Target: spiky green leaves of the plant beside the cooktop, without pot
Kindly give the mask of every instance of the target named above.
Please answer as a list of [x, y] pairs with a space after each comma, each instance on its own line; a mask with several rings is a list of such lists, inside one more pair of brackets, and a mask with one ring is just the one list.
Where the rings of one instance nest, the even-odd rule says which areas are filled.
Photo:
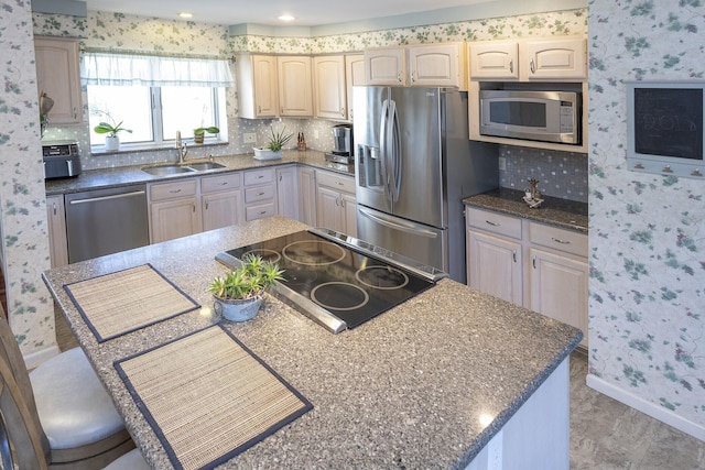
[[248, 254], [242, 258], [240, 267], [213, 280], [208, 291], [226, 300], [253, 298], [261, 296], [276, 281], [283, 281], [283, 273], [278, 263], [262, 260], [257, 254]]

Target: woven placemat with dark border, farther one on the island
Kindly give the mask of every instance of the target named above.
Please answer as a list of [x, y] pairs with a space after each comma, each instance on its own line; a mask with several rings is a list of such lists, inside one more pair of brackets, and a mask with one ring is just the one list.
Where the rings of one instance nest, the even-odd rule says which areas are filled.
[[64, 286], [98, 342], [199, 308], [151, 264]]

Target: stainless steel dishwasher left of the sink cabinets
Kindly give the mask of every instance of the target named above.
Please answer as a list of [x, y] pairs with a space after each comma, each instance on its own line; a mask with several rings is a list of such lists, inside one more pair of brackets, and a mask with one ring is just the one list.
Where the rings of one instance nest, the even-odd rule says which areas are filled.
[[64, 203], [69, 263], [150, 243], [145, 185], [67, 194]]

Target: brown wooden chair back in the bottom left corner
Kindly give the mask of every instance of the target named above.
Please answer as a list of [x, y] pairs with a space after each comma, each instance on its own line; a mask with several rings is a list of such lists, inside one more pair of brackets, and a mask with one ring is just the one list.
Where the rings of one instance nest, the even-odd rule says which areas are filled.
[[[2, 468], [46, 469], [50, 445], [22, 352], [0, 306], [0, 457]], [[13, 464], [12, 464], [13, 463]]]

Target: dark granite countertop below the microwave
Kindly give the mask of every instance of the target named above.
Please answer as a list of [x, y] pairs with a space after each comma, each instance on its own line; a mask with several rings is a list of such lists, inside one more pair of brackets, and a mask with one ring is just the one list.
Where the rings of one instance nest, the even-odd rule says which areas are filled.
[[538, 209], [523, 201], [523, 192], [508, 188], [494, 189], [463, 199], [467, 206], [496, 210], [510, 216], [535, 220], [551, 226], [587, 233], [587, 204], [557, 197], [542, 196], [543, 204]]

